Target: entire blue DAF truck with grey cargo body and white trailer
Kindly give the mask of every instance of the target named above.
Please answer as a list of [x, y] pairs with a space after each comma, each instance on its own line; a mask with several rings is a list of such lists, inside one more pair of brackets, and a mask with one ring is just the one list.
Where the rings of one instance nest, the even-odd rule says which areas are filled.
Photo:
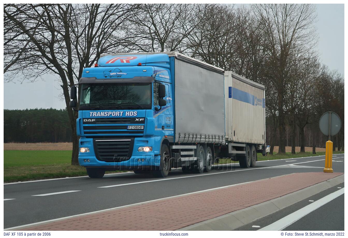
[[203, 173], [227, 157], [253, 167], [267, 152], [264, 86], [177, 52], [101, 55], [70, 97], [90, 178]]

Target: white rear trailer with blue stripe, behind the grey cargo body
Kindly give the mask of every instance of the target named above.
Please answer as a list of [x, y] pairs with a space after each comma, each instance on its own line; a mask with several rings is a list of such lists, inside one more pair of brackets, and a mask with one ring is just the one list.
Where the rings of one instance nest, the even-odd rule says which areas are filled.
[[266, 108], [263, 85], [231, 71], [224, 74], [226, 150], [241, 167], [253, 167], [257, 152], [266, 154]]

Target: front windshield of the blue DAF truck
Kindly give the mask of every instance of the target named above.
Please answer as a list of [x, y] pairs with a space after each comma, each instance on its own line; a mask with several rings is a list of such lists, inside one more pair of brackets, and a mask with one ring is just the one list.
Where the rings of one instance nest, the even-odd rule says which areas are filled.
[[80, 109], [151, 109], [151, 83], [82, 84]]

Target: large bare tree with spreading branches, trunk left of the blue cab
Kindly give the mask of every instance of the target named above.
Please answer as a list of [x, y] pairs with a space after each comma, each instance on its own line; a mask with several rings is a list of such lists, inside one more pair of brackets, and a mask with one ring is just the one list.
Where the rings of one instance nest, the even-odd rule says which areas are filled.
[[[69, 107], [69, 87], [78, 82], [84, 67], [99, 55], [118, 51], [125, 42], [124, 20], [137, 5], [7, 4], [5, 81], [23, 75], [35, 80], [51, 73], [61, 81], [73, 132], [72, 164], [78, 164], [77, 113]], [[14, 64], [11, 59], [16, 59]]]

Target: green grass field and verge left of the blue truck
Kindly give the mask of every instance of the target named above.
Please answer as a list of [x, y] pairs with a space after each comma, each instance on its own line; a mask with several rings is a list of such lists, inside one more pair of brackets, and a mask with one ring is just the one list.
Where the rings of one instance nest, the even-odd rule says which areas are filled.
[[4, 182], [87, 175], [85, 167], [71, 165], [71, 150], [4, 150], [3, 170]]

